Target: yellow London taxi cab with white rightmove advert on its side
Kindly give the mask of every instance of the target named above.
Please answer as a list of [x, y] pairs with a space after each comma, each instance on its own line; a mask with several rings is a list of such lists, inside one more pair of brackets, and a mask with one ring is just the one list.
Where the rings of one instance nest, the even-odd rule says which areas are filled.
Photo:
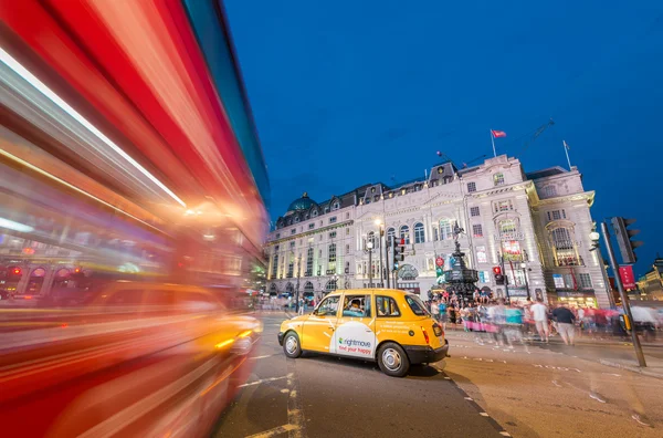
[[287, 357], [302, 351], [377, 361], [390, 376], [410, 365], [443, 359], [449, 352], [442, 327], [418, 295], [391, 289], [336, 291], [309, 315], [281, 324], [278, 343]]

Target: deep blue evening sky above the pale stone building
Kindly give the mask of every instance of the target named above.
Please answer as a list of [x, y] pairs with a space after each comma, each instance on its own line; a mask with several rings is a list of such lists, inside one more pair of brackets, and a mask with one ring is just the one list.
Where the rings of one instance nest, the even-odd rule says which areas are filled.
[[[610, 4], [610, 7], [608, 7]], [[596, 220], [663, 252], [663, 2], [225, 0], [272, 182], [272, 218], [367, 182], [499, 153], [567, 167]], [[533, 132], [556, 122], [525, 150]]]

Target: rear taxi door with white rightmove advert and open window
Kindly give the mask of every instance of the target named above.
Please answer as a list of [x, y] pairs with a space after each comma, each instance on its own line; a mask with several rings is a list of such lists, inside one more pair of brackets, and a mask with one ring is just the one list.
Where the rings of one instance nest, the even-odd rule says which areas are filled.
[[377, 341], [371, 294], [346, 292], [340, 304], [334, 333], [336, 353], [372, 359]]

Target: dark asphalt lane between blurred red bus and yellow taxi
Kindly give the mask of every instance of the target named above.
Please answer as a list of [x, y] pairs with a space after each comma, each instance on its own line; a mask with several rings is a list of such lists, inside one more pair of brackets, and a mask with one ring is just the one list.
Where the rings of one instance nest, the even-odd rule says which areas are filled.
[[218, 437], [499, 437], [506, 434], [441, 371], [406, 378], [375, 364], [305, 354], [287, 359], [276, 334], [285, 315], [264, 315], [253, 375], [217, 424]]

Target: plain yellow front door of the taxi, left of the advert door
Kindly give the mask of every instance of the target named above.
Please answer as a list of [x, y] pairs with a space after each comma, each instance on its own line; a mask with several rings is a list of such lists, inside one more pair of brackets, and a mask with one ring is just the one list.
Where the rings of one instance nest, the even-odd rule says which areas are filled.
[[302, 326], [302, 350], [336, 353], [334, 331], [340, 295], [325, 298]]

